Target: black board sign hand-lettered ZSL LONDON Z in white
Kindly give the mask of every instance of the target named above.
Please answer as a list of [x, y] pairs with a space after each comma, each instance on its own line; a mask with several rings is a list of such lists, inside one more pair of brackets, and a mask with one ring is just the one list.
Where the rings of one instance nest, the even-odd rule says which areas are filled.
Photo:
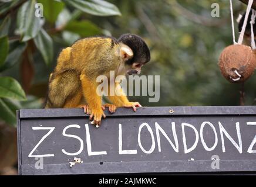
[[[20, 175], [256, 172], [256, 107], [22, 109]], [[74, 159], [76, 161], [74, 161]]]

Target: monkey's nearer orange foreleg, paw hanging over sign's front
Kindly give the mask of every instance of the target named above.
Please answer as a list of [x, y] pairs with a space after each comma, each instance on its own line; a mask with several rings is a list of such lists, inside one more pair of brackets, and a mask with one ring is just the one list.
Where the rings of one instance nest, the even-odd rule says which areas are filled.
[[91, 112], [90, 120], [93, 119], [93, 123], [97, 127], [100, 125], [102, 117], [106, 117], [102, 110], [102, 96], [97, 95], [96, 81], [87, 78], [84, 74], [80, 75], [80, 81], [82, 83], [83, 96]]

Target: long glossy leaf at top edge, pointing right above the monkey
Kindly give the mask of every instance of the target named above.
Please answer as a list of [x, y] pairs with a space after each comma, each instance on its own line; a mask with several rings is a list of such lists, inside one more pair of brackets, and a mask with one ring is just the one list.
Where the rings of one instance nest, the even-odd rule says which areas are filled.
[[62, 0], [65, 4], [71, 5], [80, 11], [96, 16], [115, 16], [121, 15], [116, 5], [103, 0]]

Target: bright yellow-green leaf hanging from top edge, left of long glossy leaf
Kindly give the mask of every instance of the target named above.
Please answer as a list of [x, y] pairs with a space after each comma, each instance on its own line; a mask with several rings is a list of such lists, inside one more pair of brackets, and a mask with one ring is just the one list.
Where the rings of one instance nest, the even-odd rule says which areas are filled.
[[59, 13], [65, 6], [63, 2], [52, 0], [38, 0], [37, 2], [43, 4], [43, 17], [50, 23], [55, 23]]

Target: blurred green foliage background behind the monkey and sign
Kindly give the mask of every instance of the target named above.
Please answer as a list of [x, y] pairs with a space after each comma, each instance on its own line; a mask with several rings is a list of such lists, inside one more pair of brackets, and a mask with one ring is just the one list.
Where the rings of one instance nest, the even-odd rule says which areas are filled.
[[[43, 4], [43, 18], [35, 17], [36, 2]], [[220, 5], [219, 18], [211, 17], [213, 3]], [[240, 85], [226, 81], [217, 65], [232, 44], [229, 6], [221, 0], [0, 1], [0, 117], [15, 124], [16, 109], [42, 107], [64, 47], [81, 37], [123, 33], [142, 36], [150, 47], [142, 74], [160, 75], [159, 102], [131, 100], [143, 106], [238, 105]], [[245, 8], [234, 1], [234, 16]], [[254, 102], [255, 78], [245, 84], [247, 105]]]

